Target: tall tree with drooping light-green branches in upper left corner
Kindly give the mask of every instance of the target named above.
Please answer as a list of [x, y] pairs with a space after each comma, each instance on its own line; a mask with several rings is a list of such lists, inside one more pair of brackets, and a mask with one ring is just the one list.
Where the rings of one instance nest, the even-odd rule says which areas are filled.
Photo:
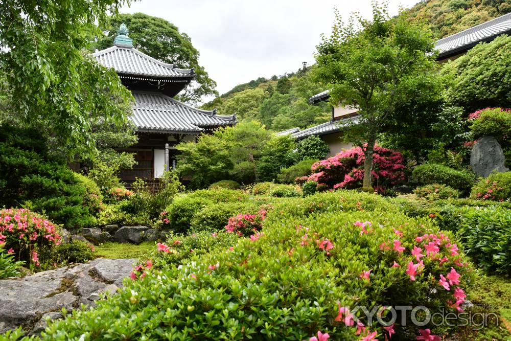
[[[106, 13], [129, 0], [4, 0], [0, 3], [0, 67], [12, 86], [19, 119], [38, 121], [68, 146], [95, 151], [90, 118], [123, 123], [119, 100], [131, 95], [113, 70], [83, 49]], [[71, 146], [71, 147], [69, 147]]]

